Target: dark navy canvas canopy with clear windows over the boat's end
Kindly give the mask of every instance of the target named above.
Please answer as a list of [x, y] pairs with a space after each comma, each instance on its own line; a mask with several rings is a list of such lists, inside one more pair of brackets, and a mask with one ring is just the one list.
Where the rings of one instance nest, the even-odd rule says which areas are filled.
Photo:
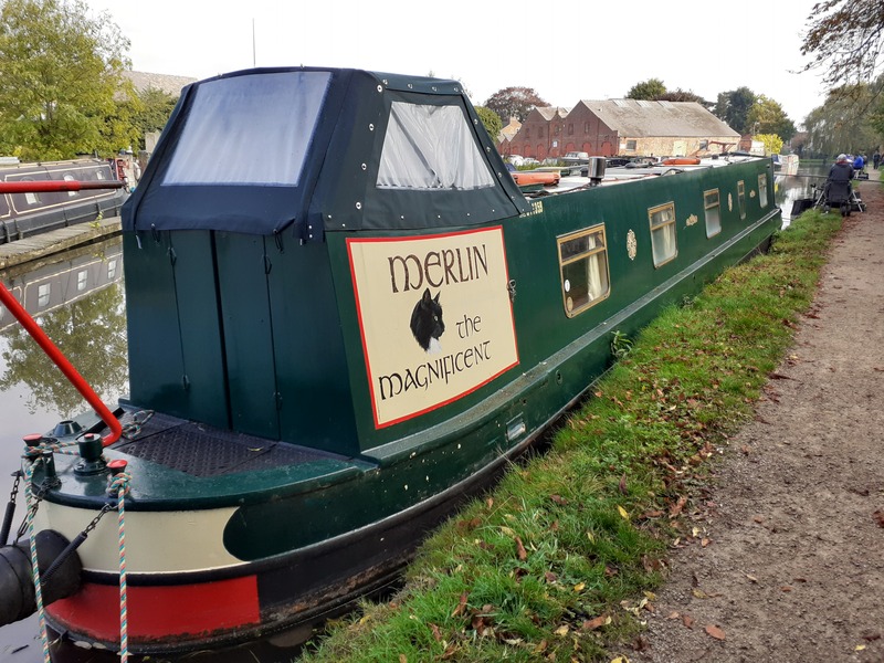
[[123, 223], [311, 240], [528, 210], [456, 81], [257, 69], [185, 88]]

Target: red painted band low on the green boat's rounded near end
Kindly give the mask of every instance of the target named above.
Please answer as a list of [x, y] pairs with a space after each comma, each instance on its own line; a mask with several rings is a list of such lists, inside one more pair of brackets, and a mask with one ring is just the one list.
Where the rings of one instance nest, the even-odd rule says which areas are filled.
[[[218, 632], [260, 621], [255, 576], [199, 585], [129, 585], [127, 601], [130, 643]], [[73, 597], [49, 606], [46, 612], [74, 638], [81, 634], [103, 642], [119, 641], [116, 585], [86, 582]]]

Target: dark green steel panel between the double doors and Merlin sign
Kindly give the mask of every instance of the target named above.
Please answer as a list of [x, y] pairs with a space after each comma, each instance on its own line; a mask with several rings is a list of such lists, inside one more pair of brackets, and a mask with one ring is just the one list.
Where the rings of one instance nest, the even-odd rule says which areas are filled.
[[280, 425], [287, 442], [359, 452], [327, 246], [266, 240]]

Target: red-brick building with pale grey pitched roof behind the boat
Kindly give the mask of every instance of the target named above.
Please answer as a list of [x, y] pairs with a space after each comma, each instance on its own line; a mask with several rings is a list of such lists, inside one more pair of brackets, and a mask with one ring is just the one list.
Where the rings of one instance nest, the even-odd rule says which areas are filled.
[[535, 108], [508, 154], [545, 159], [592, 156], [687, 156], [735, 149], [739, 134], [695, 102], [581, 99], [571, 108]]

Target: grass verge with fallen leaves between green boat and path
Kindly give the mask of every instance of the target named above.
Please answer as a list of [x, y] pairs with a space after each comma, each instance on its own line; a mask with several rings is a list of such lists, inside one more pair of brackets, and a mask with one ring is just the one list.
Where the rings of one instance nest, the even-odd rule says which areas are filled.
[[[815, 293], [841, 218], [804, 213], [771, 251], [666, 309], [551, 450], [422, 546], [402, 591], [334, 624], [304, 662], [610, 661], [629, 650], [709, 460], [753, 413]], [[628, 350], [628, 351], [625, 351]]]

